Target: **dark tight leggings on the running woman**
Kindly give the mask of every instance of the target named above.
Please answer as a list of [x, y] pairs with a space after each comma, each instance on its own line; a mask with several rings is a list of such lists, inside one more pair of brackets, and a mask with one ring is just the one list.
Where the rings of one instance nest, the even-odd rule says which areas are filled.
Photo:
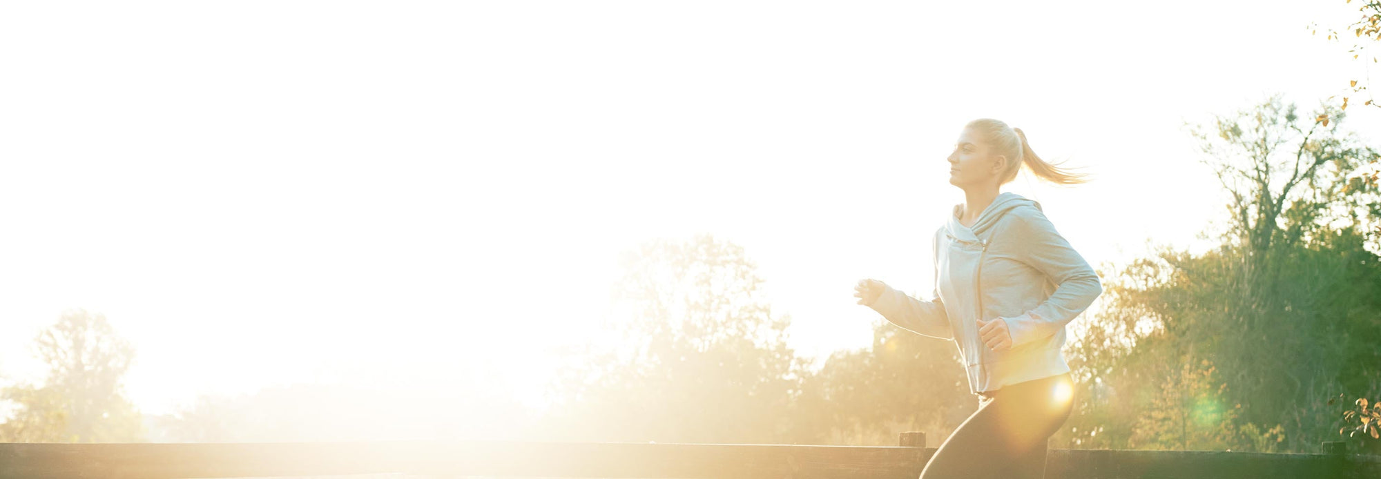
[[921, 479], [1044, 478], [1050, 436], [1069, 418], [1070, 373], [1010, 384], [979, 399], [931, 456]]

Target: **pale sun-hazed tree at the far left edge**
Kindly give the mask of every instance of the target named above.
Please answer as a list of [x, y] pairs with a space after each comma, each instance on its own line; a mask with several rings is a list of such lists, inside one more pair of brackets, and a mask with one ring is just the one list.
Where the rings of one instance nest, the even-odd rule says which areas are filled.
[[134, 346], [115, 334], [104, 315], [62, 313], [36, 338], [48, 364], [43, 387], [15, 385], [3, 399], [19, 404], [6, 424], [11, 442], [142, 442], [142, 417], [124, 398], [122, 377]]

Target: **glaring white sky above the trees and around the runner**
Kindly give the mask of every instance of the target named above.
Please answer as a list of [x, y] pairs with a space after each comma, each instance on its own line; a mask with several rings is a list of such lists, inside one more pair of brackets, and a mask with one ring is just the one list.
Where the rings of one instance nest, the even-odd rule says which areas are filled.
[[747, 248], [800, 353], [865, 346], [858, 279], [931, 290], [965, 121], [1098, 175], [1008, 185], [1091, 264], [1189, 246], [1222, 208], [1181, 121], [1341, 92], [1359, 65], [1305, 26], [1352, 8], [7, 3], [0, 375], [39, 380], [33, 337], [86, 308], [145, 413], [474, 370], [537, 404], [615, 255], [697, 232]]

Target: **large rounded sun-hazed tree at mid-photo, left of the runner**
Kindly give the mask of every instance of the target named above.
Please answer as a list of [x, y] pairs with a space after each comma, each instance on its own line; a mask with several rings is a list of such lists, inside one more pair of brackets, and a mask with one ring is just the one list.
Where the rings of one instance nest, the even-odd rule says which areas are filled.
[[744, 250], [699, 235], [620, 258], [613, 346], [587, 345], [547, 418], [579, 440], [779, 443], [805, 360], [786, 345]]

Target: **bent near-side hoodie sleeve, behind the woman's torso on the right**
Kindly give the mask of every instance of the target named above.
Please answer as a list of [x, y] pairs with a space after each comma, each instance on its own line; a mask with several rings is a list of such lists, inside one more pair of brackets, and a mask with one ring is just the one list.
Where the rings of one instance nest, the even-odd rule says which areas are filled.
[[1012, 215], [1011, 231], [1004, 236], [1019, 239], [1018, 258], [1058, 287], [1036, 308], [1004, 317], [1014, 348], [1055, 334], [1103, 293], [1098, 273], [1059, 236], [1045, 214], [1040, 208], [1022, 210]]

